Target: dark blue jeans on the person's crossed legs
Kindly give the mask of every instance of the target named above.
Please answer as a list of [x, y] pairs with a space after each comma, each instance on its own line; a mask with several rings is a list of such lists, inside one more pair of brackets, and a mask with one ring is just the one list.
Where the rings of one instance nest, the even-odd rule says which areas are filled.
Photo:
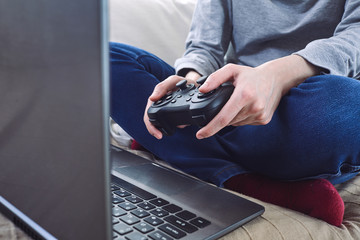
[[223, 186], [255, 172], [280, 180], [344, 182], [360, 171], [360, 81], [334, 75], [308, 78], [284, 96], [264, 126], [226, 127], [198, 140], [197, 126], [157, 140], [143, 115], [156, 84], [175, 74], [156, 56], [110, 44], [111, 117], [142, 146], [172, 166]]

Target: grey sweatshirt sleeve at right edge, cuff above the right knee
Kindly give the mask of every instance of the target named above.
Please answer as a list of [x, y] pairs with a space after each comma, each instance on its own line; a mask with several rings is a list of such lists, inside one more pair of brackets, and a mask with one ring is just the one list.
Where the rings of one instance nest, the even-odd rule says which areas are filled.
[[312, 41], [294, 54], [325, 73], [360, 78], [360, 1], [346, 1], [342, 20], [332, 37]]

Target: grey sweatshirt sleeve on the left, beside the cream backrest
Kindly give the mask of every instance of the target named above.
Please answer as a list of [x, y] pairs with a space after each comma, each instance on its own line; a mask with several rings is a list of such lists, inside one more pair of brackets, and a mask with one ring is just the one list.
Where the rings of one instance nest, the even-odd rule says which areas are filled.
[[231, 38], [231, 1], [197, 1], [190, 32], [186, 39], [186, 51], [175, 62], [177, 74], [184, 69], [194, 69], [208, 75], [224, 65], [224, 55]]

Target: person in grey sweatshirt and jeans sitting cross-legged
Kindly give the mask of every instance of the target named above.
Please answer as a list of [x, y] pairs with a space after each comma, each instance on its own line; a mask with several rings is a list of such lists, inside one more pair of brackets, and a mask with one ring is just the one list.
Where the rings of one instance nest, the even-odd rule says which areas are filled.
[[[110, 44], [111, 116], [186, 173], [340, 226], [334, 185], [360, 171], [359, 39], [358, 0], [199, 0], [175, 68]], [[231, 82], [232, 96], [206, 126], [164, 137], [147, 109], [204, 75], [201, 92]]]

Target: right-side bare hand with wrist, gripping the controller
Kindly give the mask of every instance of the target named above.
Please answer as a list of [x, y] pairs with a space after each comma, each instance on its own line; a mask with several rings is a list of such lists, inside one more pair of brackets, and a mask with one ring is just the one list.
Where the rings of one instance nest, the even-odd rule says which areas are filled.
[[211, 74], [199, 90], [205, 93], [224, 82], [232, 82], [234, 92], [215, 118], [197, 132], [196, 137], [210, 137], [228, 125], [269, 123], [281, 97], [318, 71], [297, 55], [276, 59], [256, 68], [226, 65]]

